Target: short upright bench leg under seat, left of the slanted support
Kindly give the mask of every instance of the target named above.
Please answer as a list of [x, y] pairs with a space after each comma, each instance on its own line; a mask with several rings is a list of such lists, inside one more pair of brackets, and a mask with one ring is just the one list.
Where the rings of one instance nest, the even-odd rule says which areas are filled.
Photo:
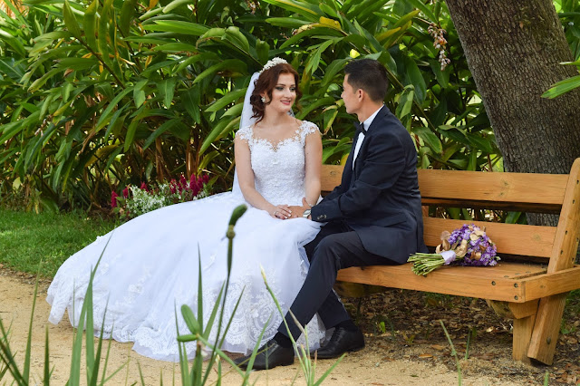
[[530, 362], [527, 357], [527, 350], [534, 330], [534, 323], [536, 322], [537, 304], [537, 300], [527, 303], [508, 304], [514, 318], [514, 340], [512, 343], [512, 358], [514, 361]]

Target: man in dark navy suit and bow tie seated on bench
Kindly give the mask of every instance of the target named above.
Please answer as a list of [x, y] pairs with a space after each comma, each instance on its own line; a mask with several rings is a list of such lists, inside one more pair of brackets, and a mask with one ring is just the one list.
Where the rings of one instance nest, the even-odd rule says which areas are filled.
[[[298, 216], [327, 223], [305, 246], [311, 265], [290, 307], [303, 326], [318, 314], [326, 328], [334, 327], [330, 341], [318, 350], [318, 358], [335, 358], [364, 348], [362, 332], [333, 292], [339, 269], [403, 264], [411, 254], [427, 251], [417, 152], [401, 121], [382, 103], [387, 72], [371, 59], [348, 63], [344, 72], [344, 106], [362, 123], [357, 125], [341, 185], [314, 207], [304, 200], [304, 207], [292, 208]], [[301, 332], [289, 313], [285, 321], [297, 340]], [[289, 365], [294, 355], [282, 323], [275, 337], [259, 350], [253, 368]], [[237, 361], [242, 367], [244, 359]]]

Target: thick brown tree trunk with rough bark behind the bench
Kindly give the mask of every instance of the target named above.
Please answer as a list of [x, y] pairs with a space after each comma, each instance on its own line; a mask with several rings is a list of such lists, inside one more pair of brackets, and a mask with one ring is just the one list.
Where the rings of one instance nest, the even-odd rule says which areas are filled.
[[[552, 0], [447, 0], [507, 171], [569, 173], [580, 157], [580, 90], [554, 100], [552, 84], [577, 75]], [[533, 188], [533, 187], [530, 187]]]

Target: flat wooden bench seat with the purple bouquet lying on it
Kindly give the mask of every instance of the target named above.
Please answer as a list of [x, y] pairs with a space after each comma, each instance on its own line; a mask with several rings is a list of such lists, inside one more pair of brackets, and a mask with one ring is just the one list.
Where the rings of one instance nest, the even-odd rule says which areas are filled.
[[411, 263], [408, 263], [342, 269], [337, 280], [524, 303], [530, 299], [526, 299], [522, 280], [545, 273], [546, 267], [542, 265], [500, 263], [486, 267], [443, 266], [427, 276], [420, 276], [413, 274]]

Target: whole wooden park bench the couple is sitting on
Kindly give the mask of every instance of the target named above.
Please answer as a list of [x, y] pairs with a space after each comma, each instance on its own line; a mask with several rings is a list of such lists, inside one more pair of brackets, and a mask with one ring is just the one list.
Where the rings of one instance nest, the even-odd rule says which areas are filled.
[[[322, 190], [337, 186], [342, 172], [342, 166], [324, 165]], [[552, 364], [566, 294], [580, 288], [580, 265], [575, 265], [579, 180], [580, 159], [569, 175], [420, 169], [424, 206], [556, 213], [558, 225], [424, 217], [424, 239], [430, 248], [440, 244], [442, 231], [473, 222], [486, 228], [502, 260], [496, 266], [444, 266], [427, 276], [413, 274], [410, 263], [353, 267], [339, 271], [338, 280], [501, 302], [514, 319], [514, 360]]]

